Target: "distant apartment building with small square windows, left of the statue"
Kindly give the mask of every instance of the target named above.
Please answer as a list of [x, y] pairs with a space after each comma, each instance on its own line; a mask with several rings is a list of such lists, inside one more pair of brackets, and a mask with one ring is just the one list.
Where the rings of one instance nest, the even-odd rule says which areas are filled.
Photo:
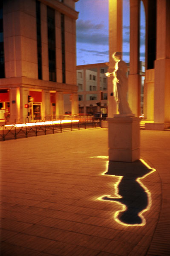
[[77, 66], [79, 113], [107, 113], [107, 69], [107, 63]]

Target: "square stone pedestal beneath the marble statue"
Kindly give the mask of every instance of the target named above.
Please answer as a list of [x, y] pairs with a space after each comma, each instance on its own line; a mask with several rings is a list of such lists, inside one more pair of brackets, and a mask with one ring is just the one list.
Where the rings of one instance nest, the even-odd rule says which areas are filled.
[[134, 162], [140, 158], [140, 118], [108, 117], [109, 161]]

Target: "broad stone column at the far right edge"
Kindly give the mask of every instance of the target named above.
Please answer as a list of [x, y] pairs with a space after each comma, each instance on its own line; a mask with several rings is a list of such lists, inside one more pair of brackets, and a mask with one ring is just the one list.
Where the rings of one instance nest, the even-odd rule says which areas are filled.
[[170, 122], [170, 1], [157, 0], [154, 122]]

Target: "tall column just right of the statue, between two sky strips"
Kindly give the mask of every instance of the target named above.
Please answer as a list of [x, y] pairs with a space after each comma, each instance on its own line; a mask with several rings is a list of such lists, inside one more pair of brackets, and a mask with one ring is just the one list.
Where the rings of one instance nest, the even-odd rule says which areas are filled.
[[130, 0], [130, 75], [128, 101], [132, 112], [140, 115], [141, 77], [139, 71], [139, 0]]

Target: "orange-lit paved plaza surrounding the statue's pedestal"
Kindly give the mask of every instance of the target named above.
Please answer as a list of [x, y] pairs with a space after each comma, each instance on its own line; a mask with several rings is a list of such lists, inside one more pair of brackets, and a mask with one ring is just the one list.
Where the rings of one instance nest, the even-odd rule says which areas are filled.
[[108, 162], [107, 132], [0, 142], [2, 256], [170, 255], [170, 132], [141, 130], [135, 163]]

